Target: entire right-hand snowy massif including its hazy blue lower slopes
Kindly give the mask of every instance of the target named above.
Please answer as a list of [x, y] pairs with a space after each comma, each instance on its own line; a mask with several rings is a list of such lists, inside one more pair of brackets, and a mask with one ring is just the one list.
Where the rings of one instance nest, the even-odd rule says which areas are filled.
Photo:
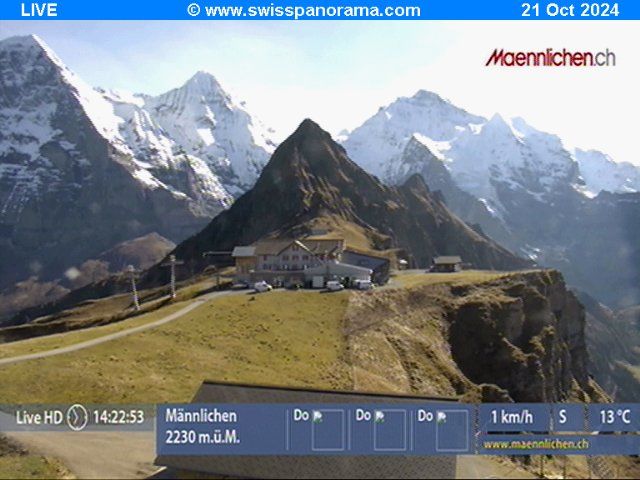
[[421, 175], [467, 224], [600, 301], [640, 303], [639, 167], [424, 91], [381, 108], [341, 143], [388, 184]]

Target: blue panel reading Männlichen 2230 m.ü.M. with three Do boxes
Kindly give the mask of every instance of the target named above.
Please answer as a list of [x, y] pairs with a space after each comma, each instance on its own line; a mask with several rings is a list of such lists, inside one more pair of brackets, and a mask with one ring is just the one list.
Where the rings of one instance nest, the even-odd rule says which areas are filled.
[[158, 455], [473, 453], [475, 406], [161, 405]]

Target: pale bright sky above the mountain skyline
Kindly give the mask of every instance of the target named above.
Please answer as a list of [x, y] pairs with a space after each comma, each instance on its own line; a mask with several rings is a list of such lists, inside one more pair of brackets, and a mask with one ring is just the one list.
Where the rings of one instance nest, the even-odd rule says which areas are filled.
[[[2, 22], [37, 33], [94, 86], [158, 94], [213, 73], [286, 136], [311, 117], [337, 133], [419, 88], [480, 115], [522, 116], [569, 146], [640, 164], [637, 24], [625, 22]], [[484, 67], [496, 47], [611, 48], [611, 69]], [[633, 141], [632, 141], [633, 140]]]

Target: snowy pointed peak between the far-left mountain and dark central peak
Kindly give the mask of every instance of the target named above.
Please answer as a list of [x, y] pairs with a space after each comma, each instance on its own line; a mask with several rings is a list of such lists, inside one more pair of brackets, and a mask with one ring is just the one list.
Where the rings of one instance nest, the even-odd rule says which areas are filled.
[[225, 205], [253, 185], [275, 148], [273, 132], [205, 71], [158, 96], [101, 92], [122, 119], [122, 138], [143, 159], [139, 165], [158, 170], [166, 182], [164, 170], [188, 159], [206, 192]]

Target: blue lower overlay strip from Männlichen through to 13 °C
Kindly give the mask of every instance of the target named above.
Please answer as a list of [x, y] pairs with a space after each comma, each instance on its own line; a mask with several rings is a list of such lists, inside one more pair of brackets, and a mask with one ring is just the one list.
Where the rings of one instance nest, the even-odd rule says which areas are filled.
[[[637, 419], [638, 405], [593, 405]], [[637, 455], [637, 423], [578, 404], [159, 405], [158, 455]], [[620, 415], [617, 413], [620, 411]], [[626, 412], [626, 413], [625, 413]], [[477, 422], [476, 422], [476, 413]]]

